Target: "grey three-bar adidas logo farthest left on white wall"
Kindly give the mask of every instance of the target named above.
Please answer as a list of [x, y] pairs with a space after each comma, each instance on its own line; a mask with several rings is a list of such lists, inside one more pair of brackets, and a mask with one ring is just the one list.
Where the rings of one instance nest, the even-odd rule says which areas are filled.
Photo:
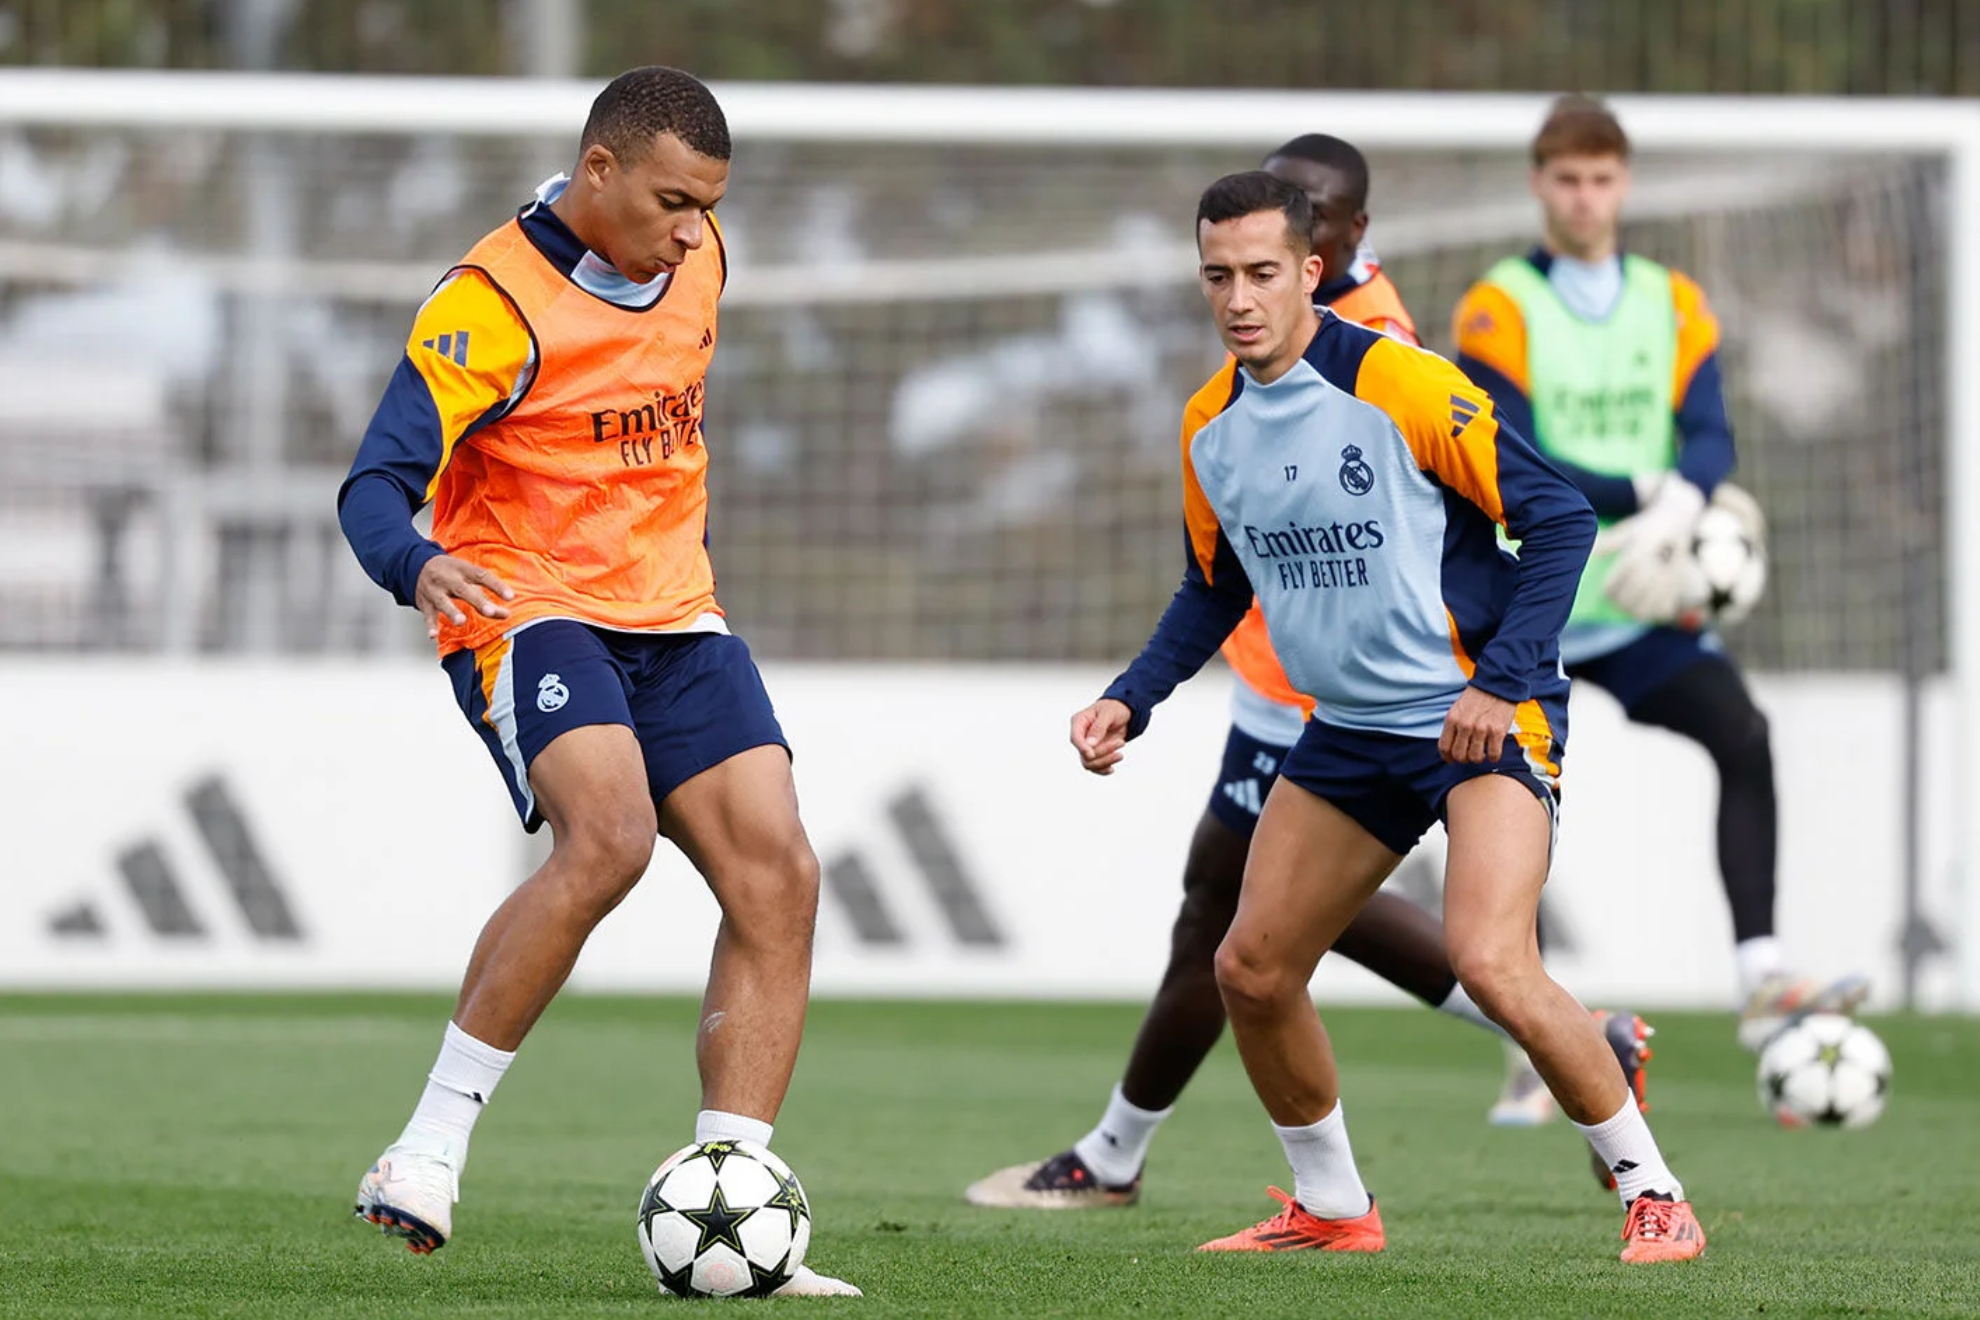
[[[275, 875], [242, 811], [220, 776], [194, 784], [184, 798], [206, 855], [240, 908], [255, 940], [303, 942], [303, 928], [289, 906], [289, 895]], [[186, 900], [178, 867], [156, 839], [139, 839], [119, 849], [117, 873], [145, 918], [150, 934], [166, 940], [212, 940], [212, 930]], [[59, 938], [105, 938], [109, 928], [91, 898], [81, 898], [48, 918], [48, 932]]]

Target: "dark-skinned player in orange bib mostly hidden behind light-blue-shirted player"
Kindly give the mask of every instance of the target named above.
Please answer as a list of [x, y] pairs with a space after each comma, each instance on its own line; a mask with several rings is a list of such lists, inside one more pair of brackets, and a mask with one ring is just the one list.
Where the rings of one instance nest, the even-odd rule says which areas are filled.
[[[1265, 156], [1263, 168], [1305, 192], [1313, 206], [1313, 251], [1321, 259], [1315, 305], [1414, 344], [1416, 325], [1402, 295], [1364, 245], [1368, 160], [1360, 150], [1336, 137], [1307, 133]], [[1138, 1201], [1156, 1130], [1224, 1033], [1224, 999], [1214, 970], [1218, 942], [1238, 910], [1259, 809], [1313, 710], [1313, 701], [1285, 677], [1255, 604], [1224, 643], [1224, 659], [1238, 679], [1224, 764], [1190, 839], [1168, 968], [1135, 1037], [1127, 1071], [1091, 1132], [1047, 1160], [1014, 1164], [978, 1179], [964, 1193], [974, 1205], [1099, 1209]], [[1335, 952], [1432, 1007], [1493, 1027], [1457, 984], [1437, 918], [1406, 898], [1374, 895], [1340, 932]], [[1606, 1013], [1602, 1021], [1632, 1088], [1639, 1092], [1649, 1059], [1643, 1047], [1647, 1027], [1634, 1013]], [[1519, 1094], [1538, 1088], [1540, 1098], [1552, 1104], [1546, 1083], [1531, 1071], [1525, 1055], [1513, 1053], [1525, 1065], [1513, 1077]]]

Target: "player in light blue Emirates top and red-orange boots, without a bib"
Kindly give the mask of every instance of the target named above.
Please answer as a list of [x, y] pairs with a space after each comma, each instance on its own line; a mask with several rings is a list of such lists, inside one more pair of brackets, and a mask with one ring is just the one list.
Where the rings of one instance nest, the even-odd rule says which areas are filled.
[[1071, 740], [1087, 770], [1111, 774], [1253, 600], [1293, 691], [1315, 699], [1216, 952], [1293, 1193], [1273, 1189], [1279, 1213], [1204, 1251], [1386, 1245], [1307, 984], [1443, 819], [1459, 982], [1616, 1176], [1622, 1259], [1695, 1257], [1705, 1235], [1681, 1183], [1602, 1029], [1546, 976], [1534, 938], [1566, 744], [1560, 629], [1594, 513], [1455, 366], [1315, 311], [1323, 263], [1301, 188], [1234, 174], [1204, 192], [1196, 222], [1204, 295], [1234, 360], [1182, 418], [1184, 576], [1142, 653], [1073, 716]]

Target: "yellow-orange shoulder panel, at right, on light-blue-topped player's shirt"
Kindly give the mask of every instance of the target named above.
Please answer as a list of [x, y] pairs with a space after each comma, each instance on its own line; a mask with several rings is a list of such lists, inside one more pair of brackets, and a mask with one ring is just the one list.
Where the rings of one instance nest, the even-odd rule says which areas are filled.
[[1505, 522], [1499, 497], [1499, 418], [1491, 396], [1424, 348], [1376, 340], [1354, 378], [1354, 396], [1390, 416], [1416, 465], [1432, 473], [1493, 522]]

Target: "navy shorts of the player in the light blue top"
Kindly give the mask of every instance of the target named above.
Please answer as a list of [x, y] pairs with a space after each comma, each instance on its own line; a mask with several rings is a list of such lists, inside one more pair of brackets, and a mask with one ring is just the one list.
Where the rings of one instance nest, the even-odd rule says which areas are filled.
[[1560, 803], [1560, 756], [1568, 714], [1558, 703], [1527, 703], [1519, 728], [1495, 762], [1453, 766], [1437, 756], [1436, 738], [1406, 738], [1307, 720], [1281, 774], [1344, 811], [1382, 847], [1406, 855], [1443, 817], [1453, 788], [1481, 774], [1525, 784], [1548, 817]]

